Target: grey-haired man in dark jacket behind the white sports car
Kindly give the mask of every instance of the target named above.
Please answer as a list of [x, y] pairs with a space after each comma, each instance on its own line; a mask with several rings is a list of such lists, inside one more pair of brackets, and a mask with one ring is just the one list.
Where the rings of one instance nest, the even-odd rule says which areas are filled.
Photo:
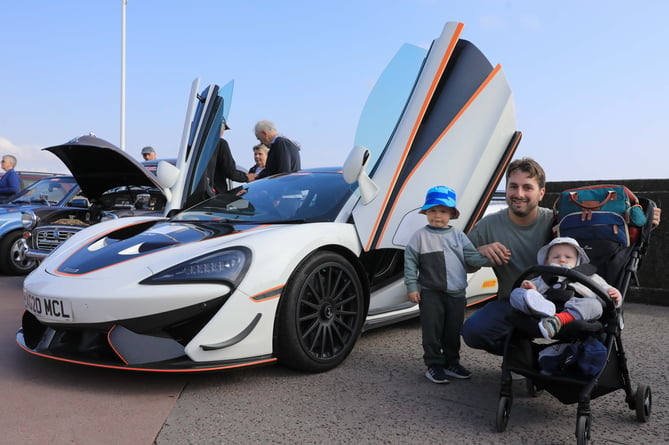
[[254, 128], [256, 138], [269, 147], [267, 164], [258, 179], [277, 173], [296, 172], [301, 168], [300, 148], [290, 139], [279, 136], [271, 121], [260, 121]]

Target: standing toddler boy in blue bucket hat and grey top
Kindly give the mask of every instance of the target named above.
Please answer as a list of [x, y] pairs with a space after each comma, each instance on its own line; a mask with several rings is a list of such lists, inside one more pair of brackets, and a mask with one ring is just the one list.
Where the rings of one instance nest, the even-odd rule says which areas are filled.
[[427, 225], [411, 238], [404, 251], [404, 284], [409, 300], [420, 306], [425, 377], [448, 383], [447, 377], [468, 379], [460, 364], [460, 330], [465, 316], [466, 266], [489, 266], [461, 230], [449, 226], [460, 216], [455, 191], [432, 187], [420, 213]]

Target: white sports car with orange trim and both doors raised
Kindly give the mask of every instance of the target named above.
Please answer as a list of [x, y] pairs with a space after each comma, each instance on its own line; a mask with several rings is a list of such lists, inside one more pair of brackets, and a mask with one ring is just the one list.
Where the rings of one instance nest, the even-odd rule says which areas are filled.
[[[168, 217], [102, 222], [57, 248], [25, 279], [18, 344], [132, 370], [278, 360], [318, 372], [344, 360], [363, 329], [415, 317], [403, 248], [425, 224], [426, 190], [454, 188], [453, 224], [467, 231], [520, 140], [501, 68], [461, 31], [448, 23], [429, 51], [400, 50], [343, 168], [277, 175], [204, 200], [227, 93], [197, 94], [194, 83], [176, 166], [157, 171]], [[494, 280], [479, 286], [470, 283], [470, 296], [496, 291]]]

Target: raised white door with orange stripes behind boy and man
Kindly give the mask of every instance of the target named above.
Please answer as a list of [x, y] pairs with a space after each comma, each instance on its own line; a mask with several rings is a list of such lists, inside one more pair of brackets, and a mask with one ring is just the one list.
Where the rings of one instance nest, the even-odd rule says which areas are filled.
[[353, 218], [363, 248], [404, 247], [425, 216], [418, 214], [428, 188], [457, 192], [468, 230], [482, 214], [520, 141], [511, 89], [463, 25], [447, 23], [432, 43], [413, 91], [370, 177], [379, 187], [372, 202], [358, 202]]

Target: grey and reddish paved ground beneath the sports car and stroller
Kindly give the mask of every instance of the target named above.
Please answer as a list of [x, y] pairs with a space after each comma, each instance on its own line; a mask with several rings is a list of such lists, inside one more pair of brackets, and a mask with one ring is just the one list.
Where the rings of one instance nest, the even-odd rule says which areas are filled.
[[[279, 366], [154, 375], [33, 357], [14, 341], [21, 280], [0, 277], [0, 443], [49, 444], [568, 444], [576, 405], [514, 384], [505, 433], [495, 432], [499, 357], [463, 348], [468, 381], [422, 376], [416, 320], [364, 334], [324, 374]], [[640, 424], [624, 392], [592, 402], [592, 444], [669, 443], [669, 307], [629, 304], [623, 341], [634, 385], [653, 390]]]

